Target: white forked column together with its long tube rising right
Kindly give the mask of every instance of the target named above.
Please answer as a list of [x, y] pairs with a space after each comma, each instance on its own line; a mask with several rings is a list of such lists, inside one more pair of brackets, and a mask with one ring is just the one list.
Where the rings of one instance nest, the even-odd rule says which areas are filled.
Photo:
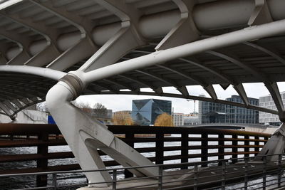
[[[175, 48], [157, 51], [146, 56], [125, 60], [113, 65], [105, 63], [105, 65], [108, 66], [84, 73], [84, 71], [89, 70], [90, 67], [93, 68], [93, 59], [92, 61], [88, 61], [88, 64], [85, 65], [86, 69], [84, 69], [84, 71], [77, 70], [70, 72], [64, 76], [57, 85], [53, 86], [46, 96], [46, 104], [83, 169], [98, 169], [104, 167], [98, 155], [98, 149], [110, 157], [113, 157], [115, 161], [124, 167], [151, 165], [152, 162], [150, 162], [150, 160], [136, 152], [135, 149], [128, 146], [128, 144], [116, 138], [105, 125], [92, 120], [84, 112], [74, 107], [71, 104], [71, 100], [78, 97], [78, 95], [82, 93], [83, 88], [95, 80], [120, 75], [130, 70], [165, 63], [169, 60], [191, 56], [216, 48], [232, 46], [244, 41], [278, 35], [284, 32], [285, 20], [275, 21], [273, 23], [244, 28], [239, 31], [195, 41]], [[110, 49], [112, 49], [111, 46]], [[209, 87], [208, 90], [212, 91], [213, 89]], [[212, 96], [215, 98], [216, 95], [212, 92]], [[154, 176], [158, 174], [155, 168], [138, 169], [132, 172], [137, 176]], [[107, 181], [110, 180], [110, 176], [105, 172], [89, 173], [86, 174], [86, 176], [88, 176], [91, 183], [105, 181], [105, 185], [108, 185]]]

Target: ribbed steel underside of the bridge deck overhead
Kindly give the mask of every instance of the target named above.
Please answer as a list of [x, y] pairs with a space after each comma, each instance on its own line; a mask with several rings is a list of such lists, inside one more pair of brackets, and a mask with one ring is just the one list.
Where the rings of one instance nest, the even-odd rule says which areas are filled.
[[[249, 25], [285, 19], [282, 0], [268, 0], [260, 10], [253, 0], [193, 2], [24, 0], [0, 10], [1, 113], [13, 117], [45, 100], [60, 76], [72, 70], [90, 72]], [[186, 24], [185, 18], [190, 23]], [[131, 30], [127, 32], [135, 40], [130, 34], [118, 33], [129, 23]], [[234, 85], [242, 95], [242, 83], [284, 81], [284, 41], [285, 33], [112, 75], [93, 81], [83, 94], [162, 95], [225, 102], [214, 98], [213, 84], [224, 88]], [[98, 59], [90, 61], [94, 55]], [[1, 65], [48, 68], [59, 74], [48, 78], [2, 70]], [[188, 85], [202, 85], [212, 99], [191, 96]], [[164, 93], [162, 87], [167, 86], [177, 88], [180, 94]], [[239, 106], [249, 107], [246, 102]]]

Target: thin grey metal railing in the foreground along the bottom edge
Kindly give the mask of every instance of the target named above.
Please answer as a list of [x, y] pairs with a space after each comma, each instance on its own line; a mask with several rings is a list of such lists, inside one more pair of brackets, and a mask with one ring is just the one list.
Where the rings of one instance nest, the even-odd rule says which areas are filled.
[[[50, 176], [48, 178], [49, 182], [47, 186], [29, 187], [26, 189], [76, 189], [81, 186], [98, 186], [102, 184], [108, 184], [109, 189], [135, 189], [139, 187], [165, 190], [226, 189], [227, 187], [230, 187], [231, 189], [276, 189], [285, 186], [285, 154], [276, 155], [278, 156], [278, 160], [274, 162], [270, 161], [273, 155], [267, 155], [261, 157], [260, 162], [253, 162], [252, 157], [244, 157], [182, 164], [157, 164], [155, 166], [143, 167], [6, 174], [0, 175], [0, 179], [15, 176]], [[202, 167], [203, 164], [208, 164], [210, 167]], [[157, 176], [122, 178], [123, 174], [120, 174], [120, 171], [123, 171], [124, 169], [146, 167], [158, 167], [159, 172]], [[175, 170], [181, 167], [186, 167], [187, 169], [180, 171]], [[74, 179], [75, 177], [64, 176], [66, 174], [85, 174], [88, 172], [100, 171], [109, 171], [111, 176], [113, 176], [113, 180], [89, 184], [68, 184], [67, 180], [71, 178]], [[61, 175], [61, 177], [58, 177], [59, 175]], [[78, 178], [79, 177], [81, 176], [78, 176]], [[2, 188], [4, 187], [2, 186]]]

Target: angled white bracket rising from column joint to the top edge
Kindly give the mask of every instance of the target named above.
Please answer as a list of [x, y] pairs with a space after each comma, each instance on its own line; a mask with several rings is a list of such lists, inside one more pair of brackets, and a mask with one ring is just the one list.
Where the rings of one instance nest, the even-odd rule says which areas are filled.
[[138, 31], [140, 14], [135, 7], [121, 0], [95, 1], [117, 15], [121, 23], [120, 29], [82, 65], [80, 70], [84, 72], [111, 65], [129, 51], [146, 44]]

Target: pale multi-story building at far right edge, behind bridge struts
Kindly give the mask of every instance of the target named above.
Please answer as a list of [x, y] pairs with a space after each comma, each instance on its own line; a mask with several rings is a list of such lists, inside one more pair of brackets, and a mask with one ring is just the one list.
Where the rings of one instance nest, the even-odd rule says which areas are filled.
[[[282, 102], [285, 102], [285, 92], [281, 92]], [[284, 104], [284, 103], [283, 103]], [[285, 104], [284, 104], [285, 105]], [[277, 110], [276, 105], [271, 97], [271, 95], [259, 97], [259, 107], [268, 108], [271, 110]], [[259, 112], [259, 122], [269, 125], [281, 125], [278, 115], [274, 115], [266, 112]]]

